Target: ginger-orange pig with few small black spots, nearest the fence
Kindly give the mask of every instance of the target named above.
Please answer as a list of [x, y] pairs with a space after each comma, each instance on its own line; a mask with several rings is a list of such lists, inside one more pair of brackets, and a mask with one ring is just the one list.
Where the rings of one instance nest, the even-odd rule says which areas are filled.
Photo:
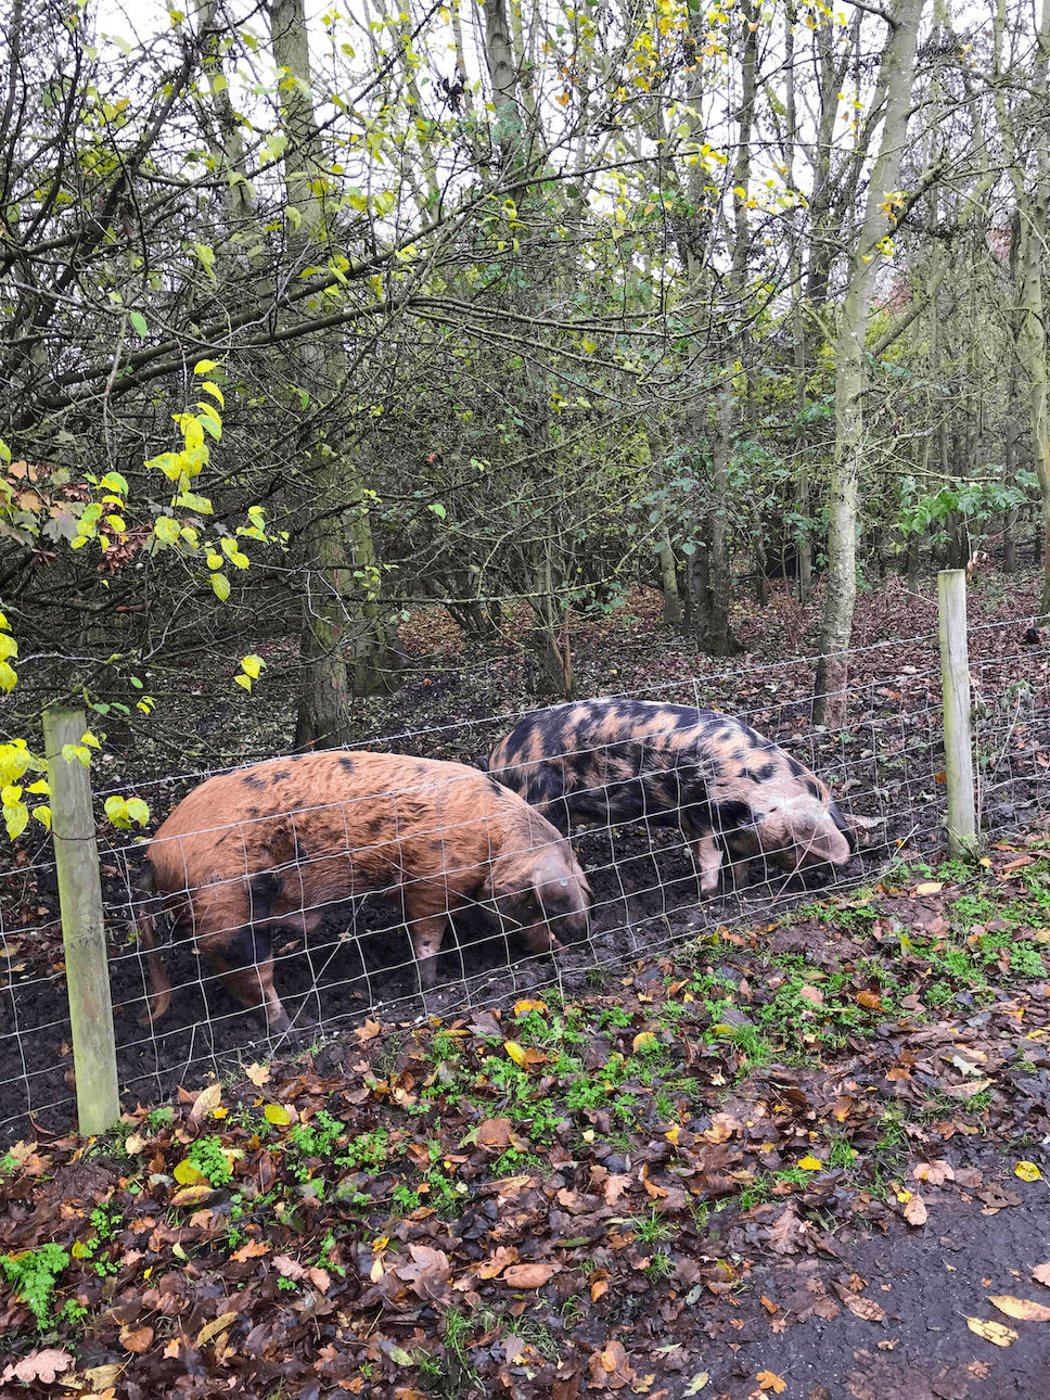
[[449, 911], [486, 902], [536, 952], [587, 932], [591, 889], [568, 841], [517, 794], [462, 763], [329, 750], [209, 778], [147, 851], [137, 910], [153, 991], [171, 1002], [155, 949], [162, 906], [269, 1029], [288, 1018], [273, 986], [269, 932], [311, 932], [326, 907], [375, 893], [402, 904], [431, 987]]

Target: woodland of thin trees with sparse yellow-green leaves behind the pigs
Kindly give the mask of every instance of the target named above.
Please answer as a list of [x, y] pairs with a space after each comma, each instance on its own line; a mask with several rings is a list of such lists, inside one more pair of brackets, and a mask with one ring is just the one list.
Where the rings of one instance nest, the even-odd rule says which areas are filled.
[[42, 704], [126, 746], [210, 659], [351, 742], [419, 608], [526, 608], [564, 696], [571, 616], [648, 584], [728, 657], [790, 577], [825, 724], [858, 581], [1025, 532], [1050, 612], [1050, 4], [3, 22], [11, 834]]

